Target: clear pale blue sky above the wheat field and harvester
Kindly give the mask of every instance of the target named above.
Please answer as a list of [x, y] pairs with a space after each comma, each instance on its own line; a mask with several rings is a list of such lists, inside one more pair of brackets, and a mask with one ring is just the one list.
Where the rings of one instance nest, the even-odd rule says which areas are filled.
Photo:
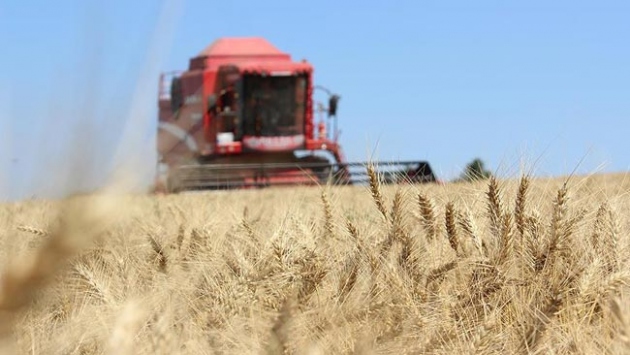
[[349, 160], [376, 147], [379, 159], [426, 159], [446, 179], [475, 157], [506, 175], [521, 160], [539, 175], [630, 165], [627, 1], [164, 4], [0, 3], [4, 197], [81, 188], [71, 151], [97, 186], [131, 121], [144, 134], [126, 141], [144, 148], [122, 156], [141, 152], [150, 180], [157, 75], [223, 36], [263, 36], [312, 62], [342, 96]]

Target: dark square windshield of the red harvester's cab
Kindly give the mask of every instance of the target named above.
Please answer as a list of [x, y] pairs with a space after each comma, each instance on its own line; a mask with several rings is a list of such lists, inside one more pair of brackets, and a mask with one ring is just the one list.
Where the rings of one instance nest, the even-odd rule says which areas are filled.
[[305, 75], [245, 75], [243, 133], [249, 136], [303, 134], [306, 84]]

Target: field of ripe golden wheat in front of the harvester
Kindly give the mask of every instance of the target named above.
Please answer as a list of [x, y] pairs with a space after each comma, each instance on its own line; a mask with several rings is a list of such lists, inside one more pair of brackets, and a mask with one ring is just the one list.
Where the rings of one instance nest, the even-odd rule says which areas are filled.
[[630, 178], [0, 209], [15, 354], [630, 352]]

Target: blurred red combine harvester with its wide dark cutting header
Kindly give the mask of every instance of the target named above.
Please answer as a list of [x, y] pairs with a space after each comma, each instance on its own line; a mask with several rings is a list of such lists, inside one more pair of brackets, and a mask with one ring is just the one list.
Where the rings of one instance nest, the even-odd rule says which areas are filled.
[[[365, 182], [366, 163], [346, 162], [338, 144], [338, 101], [313, 84], [311, 64], [265, 39], [219, 39], [160, 78], [156, 189]], [[424, 161], [372, 164], [385, 183], [436, 181]]]

